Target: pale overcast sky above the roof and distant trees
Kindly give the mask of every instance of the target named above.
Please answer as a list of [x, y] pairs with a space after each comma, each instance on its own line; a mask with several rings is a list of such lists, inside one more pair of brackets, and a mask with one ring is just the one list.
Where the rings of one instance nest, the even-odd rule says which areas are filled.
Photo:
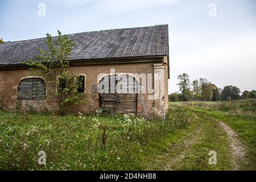
[[[39, 3], [46, 16], [38, 15]], [[256, 0], [0, 0], [0, 7], [5, 41], [168, 24], [169, 93], [179, 90], [180, 73], [256, 89]]]

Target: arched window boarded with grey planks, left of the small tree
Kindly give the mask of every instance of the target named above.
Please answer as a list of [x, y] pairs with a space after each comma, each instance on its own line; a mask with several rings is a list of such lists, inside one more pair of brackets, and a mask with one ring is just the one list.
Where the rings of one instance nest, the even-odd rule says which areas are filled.
[[18, 98], [27, 100], [46, 99], [46, 83], [42, 78], [25, 78], [19, 83]]

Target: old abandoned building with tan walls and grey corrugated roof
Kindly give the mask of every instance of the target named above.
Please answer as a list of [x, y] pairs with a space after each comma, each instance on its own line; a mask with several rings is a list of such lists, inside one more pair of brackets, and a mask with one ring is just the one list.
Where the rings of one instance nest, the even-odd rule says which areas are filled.
[[[81, 92], [86, 93], [91, 103], [77, 106], [75, 110], [92, 114], [99, 107], [109, 107], [113, 113], [134, 113], [144, 117], [164, 115], [168, 108], [168, 25], [82, 32], [68, 36], [75, 43], [68, 69], [84, 77]], [[47, 85], [38, 88], [40, 98], [34, 94], [22, 94], [32, 92], [38, 82], [40, 85], [46, 82], [43, 77], [30, 76], [27, 65], [22, 64], [33, 59], [39, 48], [47, 48], [46, 38], [0, 43], [0, 107], [15, 109], [19, 100], [20, 107], [24, 108], [29, 105], [30, 109], [38, 111], [56, 109], [54, 100], [45, 99]], [[114, 69], [115, 73], [111, 73], [110, 69]], [[106, 98], [97, 87], [102, 73], [108, 76], [127, 75], [138, 85], [143, 82], [139, 77], [141, 73], [151, 74], [147, 83], [152, 83], [154, 92], [149, 92], [148, 86], [143, 85], [140, 90], [146, 92], [114, 93]]]

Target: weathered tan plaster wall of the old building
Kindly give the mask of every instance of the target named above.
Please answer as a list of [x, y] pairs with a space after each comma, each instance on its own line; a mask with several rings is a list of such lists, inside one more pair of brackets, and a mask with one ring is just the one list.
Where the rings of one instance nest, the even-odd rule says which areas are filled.
[[[130, 63], [130, 64], [102, 64], [102, 65], [77, 65], [69, 67], [69, 71], [76, 74], [86, 75], [86, 94], [88, 104], [80, 105], [73, 109], [73, 111], [80, 111], [84, 114], [92, 114], [95, 109], [98, 108], [100, 103], [98, 102], [97, 92], [97, 77], [101, 73], [110, 73], [110, 69], [115, 69], [116, 73], [151, 73], [154, 82], [154, 67], [153, 63]], [[167, 69], [167, 67], [166, 67]], [[57, 102], [55, 100], [48, 101], [27, 101], [22, 100], [21, 105], [17, 103], [17, 86], [22, 77], [26, 77], [31, 73], [28, 69], [13, 69], [13, 70], [0, 70], [0, 106], [3, 105], [8, 109], [16, 109], [18, 106], [29, 107], [35, 110], [54, 110], [57, 108]], [[165, 74], [165, 77], [168, 76]], [[165, 78], [165, 89], [168, 89], [168, 84]], [[146, 89], [146, 88], [144, 88]], [[165, 90], [167, 94], [165, 99], [168, 100], [168, 90]], [[152, 114], [152, 109], [155, 107], [154, 100], [148, 100], [147, 93], [138, 94], [138, 115], [148, 117]], [[152, 95], [152, 94], [151, 94]], [[165, 101], [166, 102], [166, 101]], [[168, 103], [166, 104], [166, 108]]]

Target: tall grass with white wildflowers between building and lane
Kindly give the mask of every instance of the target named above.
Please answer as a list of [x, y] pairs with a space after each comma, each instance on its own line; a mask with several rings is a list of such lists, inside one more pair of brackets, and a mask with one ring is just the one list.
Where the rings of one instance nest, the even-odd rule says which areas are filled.
[[[168, 137], [189, 118], [180, 107], [165, 119], [0, 111], [0, 169], [143, 169], [142, 161], [167, 147]], [[38, 164], [39, 151], [46, 152], [46, 165]]]

